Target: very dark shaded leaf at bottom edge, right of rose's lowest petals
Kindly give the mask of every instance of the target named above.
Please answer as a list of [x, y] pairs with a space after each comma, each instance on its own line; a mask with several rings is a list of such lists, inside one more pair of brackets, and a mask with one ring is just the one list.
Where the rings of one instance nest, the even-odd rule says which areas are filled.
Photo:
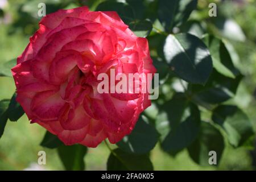
[[150, 171], [153, 170], [153, 166], [148, 154], [134, 155], [117, 148], [109, 156], [107, 169], [109, 171]]

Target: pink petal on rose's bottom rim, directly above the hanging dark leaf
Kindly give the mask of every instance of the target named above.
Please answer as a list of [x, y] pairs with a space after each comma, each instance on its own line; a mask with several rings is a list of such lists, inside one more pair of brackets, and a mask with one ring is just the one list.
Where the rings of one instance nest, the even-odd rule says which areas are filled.
[[79, 130], [63, 130], [61, 133], [58, 133], [57, 136], [63, 143], [65, 143], [65, 145], [69, 146], [82, 142], [86, 136], [87, 131], [88, 127], [86, 126]]

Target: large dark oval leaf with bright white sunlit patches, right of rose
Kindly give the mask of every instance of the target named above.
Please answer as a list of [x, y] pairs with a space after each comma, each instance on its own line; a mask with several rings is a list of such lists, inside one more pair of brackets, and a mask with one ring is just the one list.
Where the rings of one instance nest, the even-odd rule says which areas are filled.
[[204, 85], [212, 72], [212, 58], [205, 44], [190, 34], [168, 35], [164, 57], [177, 76]]

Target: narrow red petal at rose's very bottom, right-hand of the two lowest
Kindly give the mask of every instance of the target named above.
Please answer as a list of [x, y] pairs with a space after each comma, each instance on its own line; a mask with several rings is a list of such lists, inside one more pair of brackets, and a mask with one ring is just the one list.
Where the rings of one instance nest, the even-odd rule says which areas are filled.
[[80, 144], [87, 147], [97, 147], [107, 137], [104, 130], [101, 130], [96, 136], [86, 135], [85, 139]]

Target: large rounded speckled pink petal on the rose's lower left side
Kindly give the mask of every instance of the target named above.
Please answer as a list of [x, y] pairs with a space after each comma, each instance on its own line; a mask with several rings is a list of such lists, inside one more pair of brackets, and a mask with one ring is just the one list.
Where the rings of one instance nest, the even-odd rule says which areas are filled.
[[31, 109], [40, 121], [53, 121], [59, 117], [59, 111], [65, 104], [56, 90], [40, 92], [32, 99]]

